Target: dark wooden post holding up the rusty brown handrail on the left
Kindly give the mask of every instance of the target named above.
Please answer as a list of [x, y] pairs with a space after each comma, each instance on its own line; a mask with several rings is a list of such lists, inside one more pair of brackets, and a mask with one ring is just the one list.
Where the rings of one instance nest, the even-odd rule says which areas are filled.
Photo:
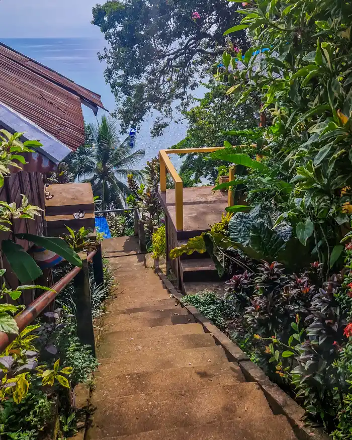
[[94, 356], [96, 356], [88, 261], [85, 253], [82, 252], [79, 254], [79, 256], [82, 260], [82, 269], [73, 279], [77, 301], [77, 336], [82, 344], [91, 345], [92, 353]]

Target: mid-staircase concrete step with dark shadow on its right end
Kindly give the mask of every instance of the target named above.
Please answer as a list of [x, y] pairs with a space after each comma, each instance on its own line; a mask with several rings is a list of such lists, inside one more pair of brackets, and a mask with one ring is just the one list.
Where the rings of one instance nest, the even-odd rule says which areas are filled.
[[[124, 315], [116, 315], [124, 316]], [[172, 325], [172, 324], [190, 324], [195, 322], [195, 319], [192, 315], [166, 315], [160, 318], [146, 318], [146, 319], [136, 319], [134, 321], [123, 321], [117, 323], [107, 322], [103, 324], [103, 329], [105, 331], [119, 331], [119, 330], [143, 330], [143, 328], [148, 327], [159, 327], [161, 325]]]

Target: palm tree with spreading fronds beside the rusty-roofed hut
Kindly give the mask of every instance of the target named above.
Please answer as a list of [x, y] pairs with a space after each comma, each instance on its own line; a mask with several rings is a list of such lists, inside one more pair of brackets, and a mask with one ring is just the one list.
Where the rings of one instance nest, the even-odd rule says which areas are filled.
[[123, 181], [127, 181], [128, 174], [141, 181], [141, 171], [133, 167], [145, 151], [133, 151], [128, 143], [129, 137], [121, 143], [116, 121], [106, 116], [97, 124], [88, 126], [88, 137], [93, 145], [93, 155], [82, 158], [81, 174], [87, 177], [84, 182], [92, 184], [93, 194], [102, 201], [102, 210], [124, 208], [125, 197], [131, 191]]

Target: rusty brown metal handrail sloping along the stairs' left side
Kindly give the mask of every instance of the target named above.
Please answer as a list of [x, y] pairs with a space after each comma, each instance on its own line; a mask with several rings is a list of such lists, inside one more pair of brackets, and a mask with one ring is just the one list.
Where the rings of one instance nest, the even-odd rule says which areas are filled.
[[[93, 250], [87, 255], [87, 261], [91, 261], [94, 255], [98, 252], [97, 249]], [[65, 275], [61, 280], [55, 283], [51, 289], [44, 292], [36, 300], [34, 300], [25, 310], [15, 316], [15, 321], [17, 322], [19, 333], [24, 330], [27, 325], [34, 321], [42, 311], [56, 298], [56, 296], [61, 292], [63, 288], [70, 283], [73, 278], [81, 271], [81, 268], [75, 267], [67, 275]], [[8, 334], [0, 332], [0, 353], [5, 350], [5, 348], [16, 339], [16, 334]]]

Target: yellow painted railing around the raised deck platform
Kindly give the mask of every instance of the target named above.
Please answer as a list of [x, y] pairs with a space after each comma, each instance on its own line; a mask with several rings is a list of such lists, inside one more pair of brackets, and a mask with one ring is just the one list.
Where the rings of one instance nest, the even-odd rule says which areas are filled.
[[[166, 191], [166, 172], [168, 171], [175, 184], [175, 212], [176, 212], [176, 229], [182, 231], [184, 228], [184, 195], [182, 179], [172, 165], [168, 154], [184, 154], [184, 153], [212, 153], [213, 151], [221, 150], [224, 147], [207, 147], [207, 148], [180, 148], [178, 150], [160, 150], [160, 191]], [[234, 180], [235, 166], [230, 167], [229, 181]], [[233, 205], [233, 192], [229, 189], [228, 192], [228, 206]]]

